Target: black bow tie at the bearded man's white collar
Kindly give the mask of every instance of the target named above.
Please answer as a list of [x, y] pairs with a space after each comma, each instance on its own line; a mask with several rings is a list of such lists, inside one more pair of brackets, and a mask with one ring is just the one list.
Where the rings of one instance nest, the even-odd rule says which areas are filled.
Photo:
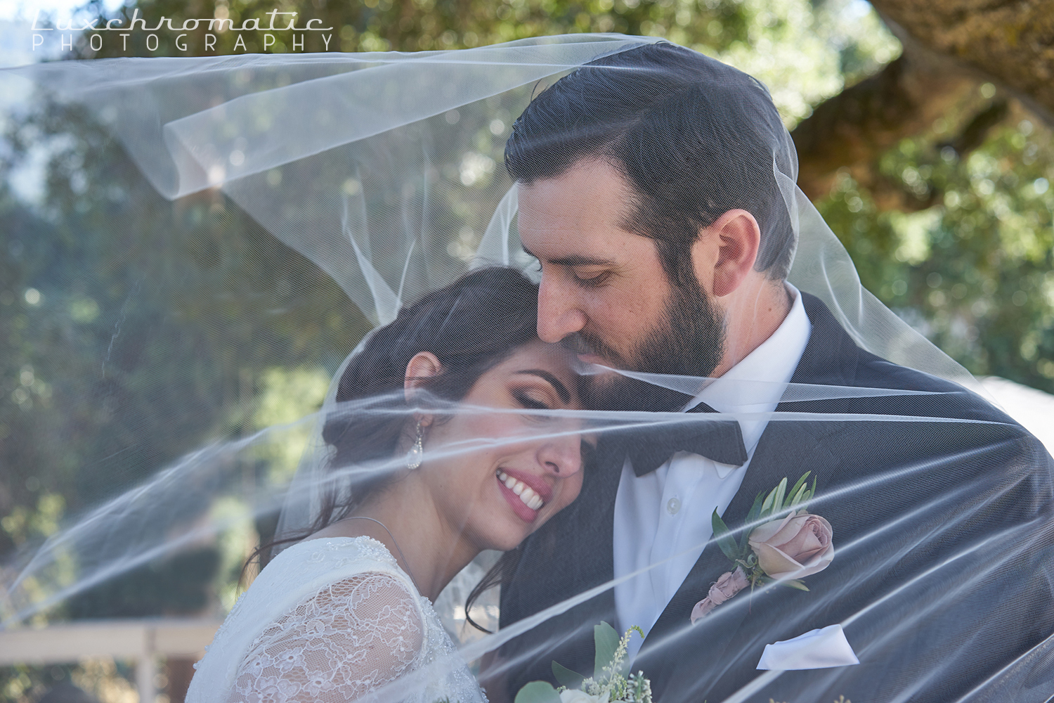
[[[715, 412], [700, 404], [688, 412]], [[605, 437], [609, 456], [618, 462], [629, 456], [633, 473], [651, 473], [674, 452], [687, 451], [721, 464], [742, 466], [746, 463], [743, 432], [735, 421], [664, 423], [627, 430], [613, 430]]]

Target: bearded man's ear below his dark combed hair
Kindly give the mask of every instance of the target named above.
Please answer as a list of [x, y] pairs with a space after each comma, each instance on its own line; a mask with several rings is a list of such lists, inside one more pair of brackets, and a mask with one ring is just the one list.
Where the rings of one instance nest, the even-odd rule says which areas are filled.
[[761, 229], [745, 210], [729, 210], [704, 227], [691, 246], [691, 265], [700, 285], [717, 297], [739, 288], [754, 269]]

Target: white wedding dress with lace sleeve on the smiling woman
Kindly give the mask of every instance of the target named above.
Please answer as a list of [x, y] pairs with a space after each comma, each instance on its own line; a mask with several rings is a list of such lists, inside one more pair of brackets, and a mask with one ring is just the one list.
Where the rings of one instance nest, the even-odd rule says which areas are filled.
[[456, 657], [384, 545], [310, 540], [275, 556], [238, 600], [195, 665], [187, 701], [345, 703], [404, 678], [385, 700], [485, 703]]

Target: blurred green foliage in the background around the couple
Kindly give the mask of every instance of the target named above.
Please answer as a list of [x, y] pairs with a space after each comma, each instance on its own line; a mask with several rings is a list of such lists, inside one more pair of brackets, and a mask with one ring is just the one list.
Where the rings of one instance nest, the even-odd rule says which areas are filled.
[[[344, 52], [567, 32], [664, 36], [758, 76], [790, 129], [899, 52], [860, 0], [140, 0], [118, 16], [138, 9], [150, 22], [228, 17], [236, 25], [255, 17], [266, 25], [275, 8], [298, 13], [300, 26], [317, 18], [334, 27], [330, 50]], [[203, 34], [191, 33], [187, 53], [212, 53]], [[235, 34], [221, 33], [215, 53], [241, 53]], [[247, 51], [262, 50], [262, 33], [241, 35]], [[270, 51], [293, 50], [291, 33], [275, 35]], [[108, 39], [98, 54], [82, 39], [77, 54], [184, 54], [174, 35], [159, 37], [153, 52], [136, 33], [128, 51]], [[317, 34], [306, 41], [306, 51], [325, 48]], [[957, 136], [1000, 101], [1009, 106], [998, 123], [963, 148]], [[328, 276], [223, 196], [161, 198], [89, 115], [40, 99], [3, 129], [0, 555], [9, 556], [202, 443], [313, 411], [368, 325]], [[491, 144], [496, 154], [502, 139]], [[18, 184], [41, 153], [42, 190], [26, 197]], [[868, 182], [906, 194], [905, 207], [887, 209], [848, 172], [817, 203], [864, 286], [975, 374], [1054, 391], [1049, 128], [983, 85], [873, 171]], [[276, 367], [276, 358], [296, 363]], [[288, 468], [295, 448], [286, 454], [260, 457], [247, 475]], [[220, 612], [273, 516], [253, 527], [45, 618]], [[28, 700], [48, 676], [0, 675], [0, 698]]]

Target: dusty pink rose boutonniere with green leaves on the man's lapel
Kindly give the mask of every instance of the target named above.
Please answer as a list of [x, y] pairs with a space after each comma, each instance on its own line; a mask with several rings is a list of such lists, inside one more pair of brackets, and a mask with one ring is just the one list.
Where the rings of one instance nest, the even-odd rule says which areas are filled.
[[806, 504], [816, 494], [816, 479], [812, 488], [805, 485], [809, 473], [802, 474], [789, 491], [784, 477], [767, 495], [764, 491], [758, 493], [746, 515], [746, 524], [770, 520], [744, 534], [739, 542], [717, 509], [714, 510], [710, 516], [714, 538], [735, 568], [722, 573], [706, 598], [691, 609], [692, 624], [747, 586], [753, 590], [758, 584], [775, 581], [808, 590], [801, 580], [827, 568], [835, 558], [833, 531], [831, 523], [808, 511]]

